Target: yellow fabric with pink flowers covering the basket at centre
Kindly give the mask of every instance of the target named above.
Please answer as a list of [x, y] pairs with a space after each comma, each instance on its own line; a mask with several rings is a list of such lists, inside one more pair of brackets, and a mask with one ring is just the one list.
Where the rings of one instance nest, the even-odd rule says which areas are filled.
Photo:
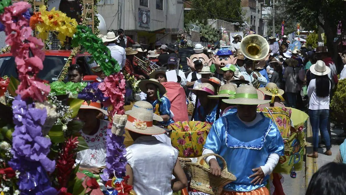
[[210, 124], [201, 121], [178, 121], [170, 124], [168, 129], [172, 130], [172, 146], [179, 150], [179, 157], [201, 156], [210, 128]]

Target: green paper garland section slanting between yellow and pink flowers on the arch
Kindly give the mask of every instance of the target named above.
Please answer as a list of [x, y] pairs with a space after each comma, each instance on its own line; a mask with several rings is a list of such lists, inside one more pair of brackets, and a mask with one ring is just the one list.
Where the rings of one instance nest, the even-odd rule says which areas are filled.
[[110, 50], [104, 46], [101, 39], [92, 33], [90, 28], [77, 26], [77, 32], [73, 35], [72, 46], [78, 45], [82, 45], [91, 54], [106, 76], [120, 71], [117, 60], [111, 57]]

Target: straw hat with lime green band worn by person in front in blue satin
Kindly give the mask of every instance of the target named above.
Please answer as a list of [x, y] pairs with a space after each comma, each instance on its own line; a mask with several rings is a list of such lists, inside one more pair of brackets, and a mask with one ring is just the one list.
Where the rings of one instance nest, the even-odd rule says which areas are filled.
[[226, 99], [222, 101], [228, 104], [243, 104], [243, 105], [258, 105], [258, 104], [265, 104], [270, 102], [270, 100], [258, 99], [256, 88], [250, 85], [243, 85], [238, 87], [234, 97], [235, 99]]

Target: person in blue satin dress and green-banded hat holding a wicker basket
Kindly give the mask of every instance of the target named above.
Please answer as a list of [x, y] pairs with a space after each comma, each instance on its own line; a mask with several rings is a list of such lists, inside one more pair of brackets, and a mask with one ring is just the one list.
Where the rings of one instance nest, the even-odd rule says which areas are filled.
[[[235, 99], [222, 100], [236, 104], [237, 111], [214, 122], [204, 144], [203, 154], [221, 155], [227, 169], [237, 180], [227, 184], [221, 195], [269, 195], [265, 187], [279, 157], [284, 155], [284, 143], [275, 123], [257, 105], [270, 100], [259, 100], [256, 88], [249, 85], [236, 90]], [[215, 156], [205, 159], [210, 173], [221, 175]]]

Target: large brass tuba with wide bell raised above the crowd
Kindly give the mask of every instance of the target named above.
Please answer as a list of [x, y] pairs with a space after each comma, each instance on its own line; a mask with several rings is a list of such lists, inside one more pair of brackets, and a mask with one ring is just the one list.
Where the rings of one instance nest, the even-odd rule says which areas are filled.
[[[244, 56], [254, 61], [253, 70], [255, 69], [255, 61], [264, 59], [269, 53], [269, 49], [268, 41], [261, 35], [247, 35], [240, 42], [240, 50]], [[258, 77], [262, 76], [260, 73], [257, 75]], [[258, 89], [260, 82], [258, 82], [258, 79], [255, 79], [252, 85]]]

